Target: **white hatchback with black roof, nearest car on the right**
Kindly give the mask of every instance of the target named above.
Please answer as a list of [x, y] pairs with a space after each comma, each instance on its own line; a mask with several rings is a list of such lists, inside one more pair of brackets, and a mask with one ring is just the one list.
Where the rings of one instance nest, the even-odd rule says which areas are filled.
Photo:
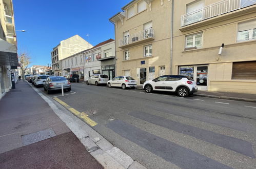
[[153, 80], [148, 80], [143, 84], [143, 89], [147, 93], [153, 91], [176, 92], [180, 97], [186, 97], [198, 91], [195, 81], [182, 75], [164, 75]]

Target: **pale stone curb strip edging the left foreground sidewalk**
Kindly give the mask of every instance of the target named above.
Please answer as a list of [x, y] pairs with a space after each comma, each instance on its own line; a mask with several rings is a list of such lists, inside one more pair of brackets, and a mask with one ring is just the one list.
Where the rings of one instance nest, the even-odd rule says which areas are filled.
[[[28, 83], [31, 87], [32, 85]], [[104, 167], [104, 168], [126, 168], [146, 169], [142, 164], [133, 160], [119, 148], [113, 146], [102, 135], [93, 130], [84, 121], [73, 115], [61, 104], [48, 98], [38, 89], [32, 87], [51, 107], [53, 112], [68, 126], [74, 135], [85, 146], [86, 150]]]

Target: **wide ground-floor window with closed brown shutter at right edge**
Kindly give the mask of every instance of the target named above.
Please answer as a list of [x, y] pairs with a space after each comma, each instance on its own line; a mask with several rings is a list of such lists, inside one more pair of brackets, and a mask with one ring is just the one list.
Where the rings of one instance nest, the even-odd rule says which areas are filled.
[[232, 79], [256, 79], [256, 61], [233, 62]]

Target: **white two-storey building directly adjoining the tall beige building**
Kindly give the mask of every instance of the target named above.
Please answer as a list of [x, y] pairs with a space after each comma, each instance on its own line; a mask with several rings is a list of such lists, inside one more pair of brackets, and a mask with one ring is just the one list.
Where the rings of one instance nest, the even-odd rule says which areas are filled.
[[85, 79], [93, 74], [115, 77], [115, 40], [108, 39], [83, 52]]

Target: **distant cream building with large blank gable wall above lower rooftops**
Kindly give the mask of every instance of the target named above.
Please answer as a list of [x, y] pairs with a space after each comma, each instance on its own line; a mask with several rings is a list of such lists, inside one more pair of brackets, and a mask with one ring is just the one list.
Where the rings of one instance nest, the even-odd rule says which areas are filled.
[[91, 44], [78, 35], [62, 40], [61, 43], [54, 47], [51, 52], [54, 75], [62, 75], [62, 65], [60, 60], [92, 47], [93, 46]]

